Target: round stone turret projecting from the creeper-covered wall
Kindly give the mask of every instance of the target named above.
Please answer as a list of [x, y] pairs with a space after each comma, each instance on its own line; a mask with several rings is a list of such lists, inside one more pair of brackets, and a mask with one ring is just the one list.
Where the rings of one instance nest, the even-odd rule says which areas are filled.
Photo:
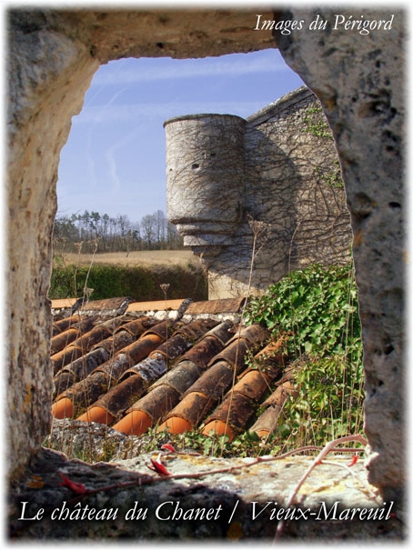
[[167, 217], [202, 257], [230, 245], [244, 202], [244, 132], [236, 115], [166, 120]]

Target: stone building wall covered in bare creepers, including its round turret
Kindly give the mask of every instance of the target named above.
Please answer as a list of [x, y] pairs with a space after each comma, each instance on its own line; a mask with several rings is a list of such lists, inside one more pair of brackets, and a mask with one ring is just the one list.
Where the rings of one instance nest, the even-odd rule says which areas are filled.
[[245, 295], [289, 271], [349, 259], [351, 229], [333, 136], [300, 88], [244, 120], [165, 123], [167, 214], [208, 268], [209, 298]]

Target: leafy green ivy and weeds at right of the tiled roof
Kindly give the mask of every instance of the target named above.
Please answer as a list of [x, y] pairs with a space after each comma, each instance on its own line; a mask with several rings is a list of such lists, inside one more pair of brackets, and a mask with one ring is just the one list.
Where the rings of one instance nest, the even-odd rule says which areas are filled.
[[363, 369], [358, 292], [352, 265], [312, 265], [293, 272], [251, 299], [248, 324], [273, 337], [288, 334], [286, 352], [298, 396], [279, 417], [274, 444], [325, 445], [362, 431]]

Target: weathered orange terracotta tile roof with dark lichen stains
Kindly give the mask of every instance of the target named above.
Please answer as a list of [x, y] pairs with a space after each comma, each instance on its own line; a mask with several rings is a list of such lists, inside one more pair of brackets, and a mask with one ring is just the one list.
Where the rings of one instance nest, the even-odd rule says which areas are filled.
[[[205, 435], [212, 428], [233, 437], [254, 422], [264, 399], [267, 409], [249, 429], [267, 435], [274, 428], [280, 395], [293, 390], [284, 377], [274, 392], [285, 358], [279, 343], [267, 345], [267, 330], [223, 320], [222, 314], [239, 312], [243, 298], [140, 305], [130, 300], [59, 312], [51, 355], [56, 418], [135, 435], [157, 426], [173, 433], [198, 427]], [[159, 315], [145, 315], [156, 305]], [[254, 357], [257, 368], [250, 366]], [[273, 394], [266, 399], [269, 388]]]

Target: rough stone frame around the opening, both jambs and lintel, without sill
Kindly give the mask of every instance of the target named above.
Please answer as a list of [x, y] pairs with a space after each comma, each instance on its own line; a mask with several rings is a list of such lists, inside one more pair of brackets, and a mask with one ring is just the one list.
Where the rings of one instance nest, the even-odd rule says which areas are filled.
[[[331, 17], [331, 10], [318, 10]], [[272, 47], [252, 32], [257, 6], [225, 12], [15, 10], [9, 22], [8, 469], [16, 478], [50, 429], [47, 363], [58, 155], [99, 64], [126, 55], [194, 57]], [[386, 497], [406, 487], [404, 413], [403, 11], [390, 32], [277, 35], [287, 63], [320, 99], [342, 166], [363, 327], [369, 479]], [[263, 19], [270, 19], [262, 11]], [[348, 15], [349, 13], [346, 12]], [[370, 15], [378, 17], [378, 11]], [[287, 19], [314, 18], [311, 10]], [[380, 15], [387, 17], [389, 12]], [[251, 22], [252, 21], [252, 22]], [[196, 30], [194, 30], [196, 29]], [[53, 115], [52, 115], [53, 114]], [[37, 154], [37, 151], [40, 154]]]

